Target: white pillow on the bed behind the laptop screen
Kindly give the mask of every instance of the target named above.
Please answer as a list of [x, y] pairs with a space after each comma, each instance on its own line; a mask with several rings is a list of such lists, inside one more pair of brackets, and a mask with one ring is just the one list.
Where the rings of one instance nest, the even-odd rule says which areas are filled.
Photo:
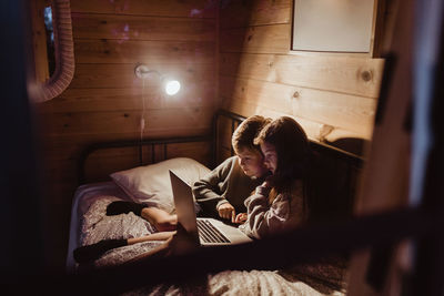
[[176, 157], [115, 172], [110, 176], [134, 202], [158, 206], [172, 213], [174, 201], [169, 170], [190, 185], [210, 173], [210, 169], [192, 159]]

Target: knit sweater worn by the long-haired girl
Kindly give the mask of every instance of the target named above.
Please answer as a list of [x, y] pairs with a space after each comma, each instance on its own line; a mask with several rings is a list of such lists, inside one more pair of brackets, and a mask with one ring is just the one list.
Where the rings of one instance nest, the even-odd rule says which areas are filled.
[[307, 220], [301, 181], [295, 181], [289, 192], [279, 193], [271, 204], [270, 190], [260, 185], [255, 193], [245, 200], [248, 220], [239, 228], [252, 238], [291, 231]]

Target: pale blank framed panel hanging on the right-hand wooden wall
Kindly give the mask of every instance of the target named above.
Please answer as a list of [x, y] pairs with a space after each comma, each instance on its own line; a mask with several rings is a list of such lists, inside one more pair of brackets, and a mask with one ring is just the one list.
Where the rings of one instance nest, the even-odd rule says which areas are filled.
[[294, 0], [292, 50], [372, 53], [376, 0]]

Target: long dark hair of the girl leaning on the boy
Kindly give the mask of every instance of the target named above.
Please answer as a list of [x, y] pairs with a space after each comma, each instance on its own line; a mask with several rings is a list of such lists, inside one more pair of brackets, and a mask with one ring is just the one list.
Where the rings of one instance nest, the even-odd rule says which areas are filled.
[[278, 187], [294, 178], [305, 178], [310, 159], [309, 139], [302, 126], [292, 118], [281, 116], [261, 130], [254, 144], [266, 142], [274, 146], [278, 165], [274, 180]]

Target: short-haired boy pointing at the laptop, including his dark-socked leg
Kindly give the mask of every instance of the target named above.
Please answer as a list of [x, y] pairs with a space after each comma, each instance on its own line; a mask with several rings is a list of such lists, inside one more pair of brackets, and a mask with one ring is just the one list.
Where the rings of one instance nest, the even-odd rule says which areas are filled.
[[[263, 165], [261, 150], [253, 140], [270, 119], [260, 115], [248, 118], [234, 131], [232, 145], [236, 156], [221, 163], [208, 176], [194, 183], [193, 195], [202, 211], [201, 216], [231, 220], [236, 213], [245, 213], [243, 201], [262, 183], [268, 170]], [[163, 210], [133, 202], [119, 201], [109, 204], [107, 215], [133, 212], [149, 221], [159, 232], [174, 231], [178, 217]]]

